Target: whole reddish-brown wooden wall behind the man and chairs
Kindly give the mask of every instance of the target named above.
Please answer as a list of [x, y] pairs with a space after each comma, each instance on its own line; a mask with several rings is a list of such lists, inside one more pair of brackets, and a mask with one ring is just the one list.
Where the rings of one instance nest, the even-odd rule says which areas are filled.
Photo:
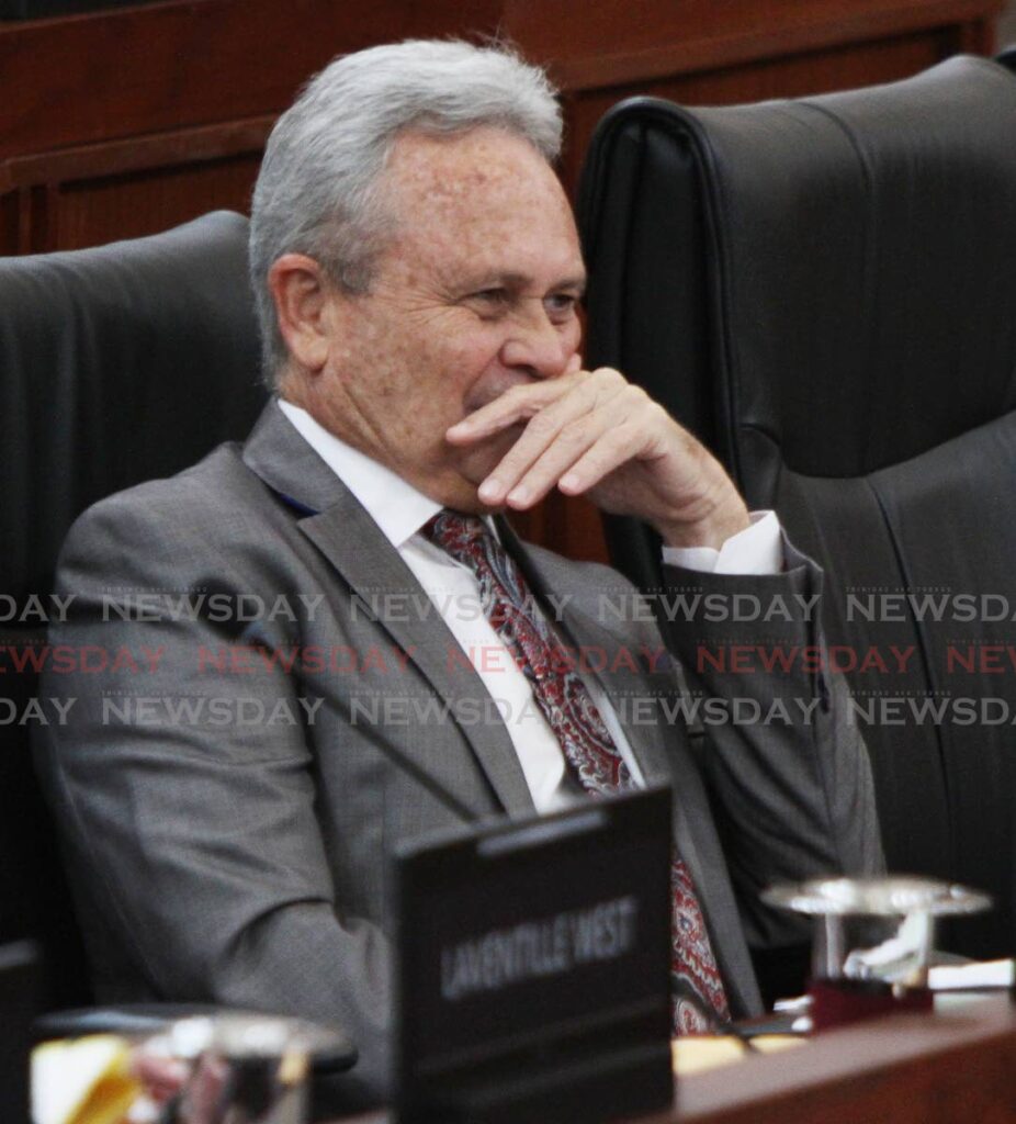
[[[246, 210], [298, 87], [374, 43], [500, 30], [564, 92], [562, 178], [616, 101], [690, 105], [892, 81], [988, 53], [1003, 0], [166, 0], [0, 24], [0, 253], [97, 245]], [[599, 518], [552, 497], [539, 542], [606, 558]]]

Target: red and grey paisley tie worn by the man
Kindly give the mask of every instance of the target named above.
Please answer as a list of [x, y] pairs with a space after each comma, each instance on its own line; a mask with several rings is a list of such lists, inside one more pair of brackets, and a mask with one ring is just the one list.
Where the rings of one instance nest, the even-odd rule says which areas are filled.
[[[477, 516], [444, 510], [423, 534], [475, 574], [490, 625], [529, 680], [533, 697], [557, 737], [569, 769], [593, 796], [634, 788], [582, 679], [571, 668], [520, 570]], [[675, 1034], [711, 1030], [707, 1013], [729, 1021], [727, 997], [691, 876], [674, 852], [671, 981]]]

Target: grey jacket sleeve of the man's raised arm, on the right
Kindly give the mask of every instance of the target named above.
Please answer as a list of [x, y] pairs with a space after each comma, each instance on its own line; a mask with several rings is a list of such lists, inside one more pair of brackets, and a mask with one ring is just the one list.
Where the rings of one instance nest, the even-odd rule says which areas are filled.
[[[754, 948], [809, 935], [760, 903], [766, 886], [883, 865], [871, 769], [846, 685], [806, 659], [822, 645], [823, 575], [792, 547], [784, 552], [784, 572], [770, 577], [664, 566], [670, 593], [698, 606], [668, 641], [691, 695], [714, 700], [700, 710], [697, 749]], [[783, 619], [783, 606], [793, 619]], [[786, 670], [779, 661], [765, 668], [773, 653], [789, 661]]]

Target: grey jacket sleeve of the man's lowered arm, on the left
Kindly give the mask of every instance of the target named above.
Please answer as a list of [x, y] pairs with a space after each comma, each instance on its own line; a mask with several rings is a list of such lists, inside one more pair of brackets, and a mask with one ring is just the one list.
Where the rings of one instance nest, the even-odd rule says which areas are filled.
[[[228, 542], [228, 528], [217, 532]], [[209, 537], [136, 499], [79, 520], [58, 575], [74, 601], [51, 647], [90, 651], [106, 668], [51, 670], [44, 692], [76, 701], [67, 725], [47, 731], [40, 772], [82, 905], [101, 914], [144, 989], [339, 1024], [361, 1051], [341, 1084], [350, 1104], [370, 1103], [388, 1079], [389, 949], [377, 924], [336, 900], [299, 683], [279, 665], [217, 659], [224, 645], [284, 644], [291, 625], [139, 600], [271, 604], [271, 566], [258, 584]], [[121, 619], [131, 606], [148, 619]]]

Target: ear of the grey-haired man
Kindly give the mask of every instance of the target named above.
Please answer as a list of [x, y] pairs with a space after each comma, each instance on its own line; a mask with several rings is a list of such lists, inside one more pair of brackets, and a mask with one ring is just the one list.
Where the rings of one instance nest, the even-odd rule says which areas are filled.
[[285, 346], [303, 370], [316, 374], [327, 362], [334, 332], [334, 290], [325, 271], [306, 254], [283, 254], [269, 270], [269, 289]]

